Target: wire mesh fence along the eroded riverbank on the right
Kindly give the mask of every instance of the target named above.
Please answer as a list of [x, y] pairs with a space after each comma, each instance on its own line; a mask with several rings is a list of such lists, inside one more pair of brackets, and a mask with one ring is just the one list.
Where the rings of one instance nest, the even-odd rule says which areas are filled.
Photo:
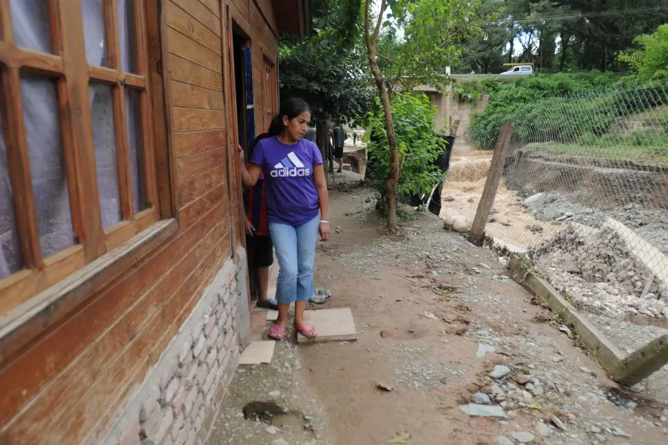
[[502, 123], [514, 136], [486, 225], [493, 245], [525, 253], [622, 351], [666, 333], [668, 85], [544, 99], [478, 121], [477, 149], [452, 160], [443, 218], [473, 220]]

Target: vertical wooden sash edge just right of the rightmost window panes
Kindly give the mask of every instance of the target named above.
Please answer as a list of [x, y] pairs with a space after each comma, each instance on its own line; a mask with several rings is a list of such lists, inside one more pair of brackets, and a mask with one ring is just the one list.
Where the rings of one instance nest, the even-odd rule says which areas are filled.
[[[149, 50], [148, 50], [148, 32], [146, 23], [145, 3], [137, 1], [135, 3], [135, 24], [136, 24], [136, 42], [137, 42], [137, 67], [141, 76], [145, 76], [147, 82], [150, 79], [147, 76]], [[146, 90], [139, 96], [141, 129], [144, 150], [144, 177], [146, 178], [147, 198], [151, 207], [158, 211], [158, 178], [156, 177], [156, 152], [153, 134], [153, 114], [151, 112], [151, 87], [147, 85]]]

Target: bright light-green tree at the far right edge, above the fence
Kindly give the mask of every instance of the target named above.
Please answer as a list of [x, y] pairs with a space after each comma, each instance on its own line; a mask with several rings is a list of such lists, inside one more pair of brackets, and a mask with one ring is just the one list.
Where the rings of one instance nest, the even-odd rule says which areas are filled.
[[636, 37], [640, 49], [620, 56], [640, 79], [668, 77], [668, 24], [659, 26], [654, 34]]

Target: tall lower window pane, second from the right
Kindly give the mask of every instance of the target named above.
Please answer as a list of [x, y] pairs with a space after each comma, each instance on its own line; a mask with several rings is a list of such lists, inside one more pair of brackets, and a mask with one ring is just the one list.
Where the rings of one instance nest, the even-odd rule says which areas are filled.
[[112, 87], [101, 83], [90, 85], [90, 115], [93, 123], [95, 167], [100, 196], [102, 226], [106, 229], [123, 220], [121, 192], [118, 184], [118, 156], [114, 134]]

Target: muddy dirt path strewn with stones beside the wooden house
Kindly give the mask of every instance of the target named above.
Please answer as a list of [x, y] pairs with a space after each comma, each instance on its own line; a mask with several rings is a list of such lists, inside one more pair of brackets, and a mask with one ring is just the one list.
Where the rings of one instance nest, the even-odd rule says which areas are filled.
[[[291, 410], [301, 406], [309, 431], [303, 422], [277, 434], [239, 420], [240, 388], [267, 393], [278, 387], [258, 367], [240, 370], [210, 444], [520, 443], [513, 433], [530, 433], [543, 444], [668, 442], [668, 410], [620, 393], [557, 329], [552, 314], [503, 276], [492, 251], [444, 232], [429, 214], [406, 223], [401, 236], [382, 236], [370, 196], [365, 190], [331, 194], [335, 234], [317, 254], [317, 285], [333, 295], [324, 306], [350, 307], [359, 340], [285, 344], [281, 349], [295, 351], [294, 366], [283, 358], [261, 365], [289, 375], [281, 397]], [[480, 345], [495, 352], [479, 357]], [[509, 377], [533, 380], [521, 386], [505, 377], [492, 386], [488, 373], [495, 365], [508, 366]], [[393, 391], [377, 389], [379, 381]], [[505, 406], [508, 418], [460, 411], [477, 392], [496, 392], [494, 404]], [[410, 439], [388, 442], [404, 432]]]

